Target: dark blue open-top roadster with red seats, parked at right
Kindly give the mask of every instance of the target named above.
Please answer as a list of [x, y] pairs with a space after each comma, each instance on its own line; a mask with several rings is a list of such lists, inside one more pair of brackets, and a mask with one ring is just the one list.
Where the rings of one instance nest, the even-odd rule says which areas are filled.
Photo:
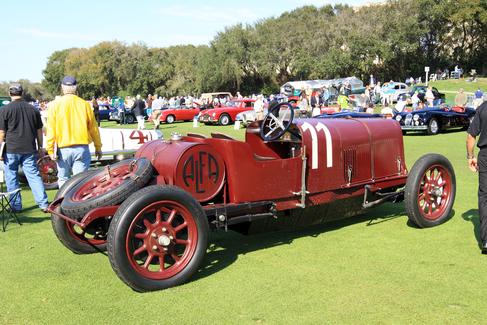
[[393, 119], [401, 125], [403, 135], [408, 131], [426, 131], [428, 135], [435, 135], [440, 130], [468, 128], [475, 112], [470, 107], [453, 106], [451, 99], [436, 99], [433, 107], [411, 113], [401, 112], [394, 115]]

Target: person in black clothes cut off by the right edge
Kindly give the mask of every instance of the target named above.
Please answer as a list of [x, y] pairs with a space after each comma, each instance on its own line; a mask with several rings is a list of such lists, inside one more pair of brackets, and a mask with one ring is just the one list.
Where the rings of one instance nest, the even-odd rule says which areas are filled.
[[[482, 253], [487, 254], [487, 102], [477, 108], [467, 133], [468, 168], [472, 172], [479, 172], [480, 239], [482, 240]], [[477, 147], [480, 148], [480, 151], [477, 160], [473, 155], [473, 147], [475, 137], [479, 134]]]

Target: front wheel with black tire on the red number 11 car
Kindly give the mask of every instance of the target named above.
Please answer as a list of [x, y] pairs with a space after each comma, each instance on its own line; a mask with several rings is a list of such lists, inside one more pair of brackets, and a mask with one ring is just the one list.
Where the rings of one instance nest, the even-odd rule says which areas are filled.
[[[447, 177], [442, 177], [442, 180], [445, 180], [448, 184], [440, 187], [440, 190], [443, 193], [447, 193], [447, 198], [445, 198], [446, 203], [445, 205], [441, 205], [440, 207], [442, 210], [439, 210], [439, 212], [436, 213], [436, 215], [431, 215], [435, 217], [434, 220], [430, 220], [427, 217], [424, 216], [424, 214], [421, 212], [421, 201], [420, 201], [420, 189], [422, 186], [422, 181], [423, 181], [423, 176], [429, 172], [430, 168], [432, 166], [439, 165], [441, 168], [443, 168], [446, 172], [448, 173], [448, 176], [450, 178], [450, 181], [447, 181]], [[429, 191], [431, 187], [431, 184], [428, 189], [423, 190], [423, 196], [425, 196], [425, 191], [429, 193], [430, 196], [431, 192]], [[431, 187], [431, 189], [435, 189], [434, 187]], [[406, 187], [405, 187], [405, 193], [404, 193], [404, 205], [406, 206], [406, 213], [408, 215], [408, 218], [411, 220], [411, 222], [418, 228], [429, 228], [429, 227], [434, 227], [441, 225], [442, 223], [445, 222], [445, 220], [448, 218], [448, 215], [450, 214], [450, 211], [453, 207], [453, 203], [455, 202], [455, 193], [456, 193], [456, 178], [455, 178], [455, 171], [453, 170], [453, 167], [451, 166], [450, 161], [445, 157], [442, 156], [441, 154], [437, 153], [429, 153], [425, 154], [421, 158], [419, 158], [414, 165], [412, 166], [412, 169], [409, 172], [408, 179], [406, 181]], [[435, 195], [435, 194], [433, 194]], [[437, 196], [434, 196], [435, 199], [437, 199]], [[443, 200], [443, 199], [442, 199]], [[431, 204], [430, 201], [427, 200], [427, 198], [424, 198], [425, 202], [428, 202]], [[442, 201], [440, 201], [439, 204], [441, 204]], [[445, 201], [443, 201], [445, 202]]]

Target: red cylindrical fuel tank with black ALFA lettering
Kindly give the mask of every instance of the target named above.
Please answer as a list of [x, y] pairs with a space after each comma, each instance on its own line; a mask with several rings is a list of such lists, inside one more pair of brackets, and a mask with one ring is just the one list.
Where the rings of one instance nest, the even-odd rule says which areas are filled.
[[214, 197], [225, 180], [222, 156], [205, 143], [153, 140], [140, 147], [135, 157], [149, 159], [167, 184], [188, 191], [200, 202]]

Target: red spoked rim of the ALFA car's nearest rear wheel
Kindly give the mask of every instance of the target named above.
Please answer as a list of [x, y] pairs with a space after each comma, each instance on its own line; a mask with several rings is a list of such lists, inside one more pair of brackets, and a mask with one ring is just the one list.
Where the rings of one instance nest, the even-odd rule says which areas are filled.
[[174, 201], [150, 204], [132, 221], [127, 256], [140, 275], [168, 279], [191, 261], [198, 242], [196, 223], [189, 211]]

